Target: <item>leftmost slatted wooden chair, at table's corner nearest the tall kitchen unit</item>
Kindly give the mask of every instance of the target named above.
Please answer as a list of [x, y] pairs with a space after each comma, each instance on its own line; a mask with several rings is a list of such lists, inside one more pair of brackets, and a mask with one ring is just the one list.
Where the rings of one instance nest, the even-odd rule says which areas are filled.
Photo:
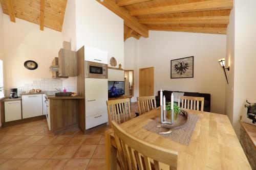
[[106, 101], [106, 105], [108, 106], [110, 124], [112, 120], [114, 120], [118, 124], [121, 124], [132, 118], [130, 99]]

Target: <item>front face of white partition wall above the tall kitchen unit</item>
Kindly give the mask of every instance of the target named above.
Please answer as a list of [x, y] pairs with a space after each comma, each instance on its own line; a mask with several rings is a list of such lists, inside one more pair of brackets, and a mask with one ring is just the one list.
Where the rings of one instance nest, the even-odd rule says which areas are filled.
[[89, 45], [115, 57], [124, 66], [123, 19], [93, 0], [76, 1], [77, 50]]

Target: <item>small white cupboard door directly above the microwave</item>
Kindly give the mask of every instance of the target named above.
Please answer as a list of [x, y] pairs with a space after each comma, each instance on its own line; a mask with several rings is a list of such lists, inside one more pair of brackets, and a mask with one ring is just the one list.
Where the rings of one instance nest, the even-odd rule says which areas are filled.
[[84, 46], [84, 60], [108, 64], [108, 52], [91, 46]]

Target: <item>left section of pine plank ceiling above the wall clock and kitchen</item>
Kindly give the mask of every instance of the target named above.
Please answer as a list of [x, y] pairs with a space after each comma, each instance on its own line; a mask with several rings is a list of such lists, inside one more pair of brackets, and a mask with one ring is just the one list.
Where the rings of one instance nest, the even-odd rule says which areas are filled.
[[27, 20], [44, 27], [62, 30], [67, 0], [0, 0], [3, 12], [15, 18]]

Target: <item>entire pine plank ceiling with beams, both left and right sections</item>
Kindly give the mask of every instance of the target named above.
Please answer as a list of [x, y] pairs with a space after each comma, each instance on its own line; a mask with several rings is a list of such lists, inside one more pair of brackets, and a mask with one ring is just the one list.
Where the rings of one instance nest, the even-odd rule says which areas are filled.
[[[73, 1], [73, 0], [71, 0]], [[96, 0], [124, 19], [124, 40], [148, 30], [226, 34], [233, 0]], [[3, 12], [62, 30], [67, 0], [0, 0]]]

